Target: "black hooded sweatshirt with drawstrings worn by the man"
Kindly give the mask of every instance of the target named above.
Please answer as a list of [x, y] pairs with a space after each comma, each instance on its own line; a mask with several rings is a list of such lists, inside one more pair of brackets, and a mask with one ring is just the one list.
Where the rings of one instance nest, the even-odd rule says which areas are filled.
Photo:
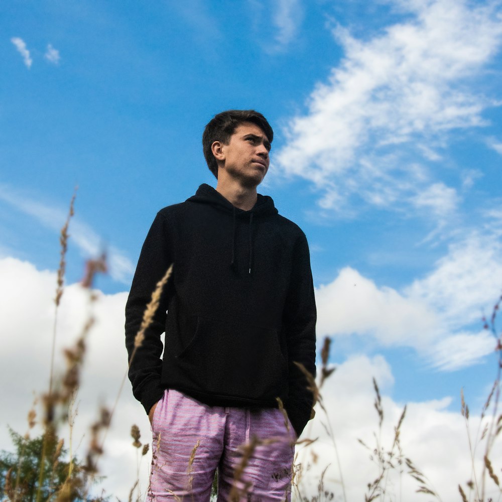
[[[147, 413], [165, 389], [211, 406], [277, 407], [298, 435], [315, 375], [316, 309], [307, 239], [268, 196], [234, 207], [208, 185], [161, 209], [141, 251], [126, 306], [131, 357], [145, 306], [173, 264], [154, 321], [131, 362]], [[166, 332], [165, 348], [160, 338]]]

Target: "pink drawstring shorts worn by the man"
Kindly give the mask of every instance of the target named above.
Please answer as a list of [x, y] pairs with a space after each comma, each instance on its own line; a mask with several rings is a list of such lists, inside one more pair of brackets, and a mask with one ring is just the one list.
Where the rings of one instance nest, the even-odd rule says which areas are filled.
[[[278, 409], [208, 406], [168, 390], [155, 409], [149, 500], [291, 498], [296, 434]], [[288, 430], [289, 429], [289, 430]]]

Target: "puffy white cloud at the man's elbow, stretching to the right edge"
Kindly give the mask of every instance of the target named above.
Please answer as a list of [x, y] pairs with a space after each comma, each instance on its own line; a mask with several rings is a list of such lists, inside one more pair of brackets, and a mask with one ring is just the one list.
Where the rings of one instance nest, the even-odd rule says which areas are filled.
[[[412, 347], [438, 369], [460, 369], [493, 351], [493, 338], [478, 328], [501, 287], [502, 244], [474, 233], [451, 244], [429, 274], [400, 292], [345, 267], [316, 290], [317, 332]], [[474, 332], [468, 330], [472, 323]]]

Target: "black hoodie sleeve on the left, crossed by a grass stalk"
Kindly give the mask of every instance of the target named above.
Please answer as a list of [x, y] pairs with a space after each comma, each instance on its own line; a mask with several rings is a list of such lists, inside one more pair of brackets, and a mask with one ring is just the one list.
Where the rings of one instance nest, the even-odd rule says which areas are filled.
[[170, 241], [166, 216], [158, 213], [143, 244], [126, 304], [126, 348], [130, 361], [129, 380], [133, 385], [134, 397], [141, 402], [147, 413], [164, 393], [164, 388], [160, 383], [163, 350], [160, 335], [165, 331], [166, 309], [169, 291], [172, 289], [172, 277], [164, 287], [159, 307], [152, 323], [145, 331], [142, 345], [137, 349], [132, 360], [131, 356], [145, 308], [152, 298], [157, 283], [172, 263]]

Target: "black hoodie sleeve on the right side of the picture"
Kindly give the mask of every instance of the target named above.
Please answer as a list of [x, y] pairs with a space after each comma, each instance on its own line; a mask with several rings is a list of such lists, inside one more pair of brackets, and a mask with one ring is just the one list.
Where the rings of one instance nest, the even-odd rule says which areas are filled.
[[288, 336], [290, 375], [289, 397], [285, 408], [298, 436], [311, 418], [314, 403], [313, 394], [307, 388], [307, 379], [295, 362], [302, 364], [315, 378], [316, 318], [309, 247], [302, 232], [294, 250], [292, 280], [283, 316]]

